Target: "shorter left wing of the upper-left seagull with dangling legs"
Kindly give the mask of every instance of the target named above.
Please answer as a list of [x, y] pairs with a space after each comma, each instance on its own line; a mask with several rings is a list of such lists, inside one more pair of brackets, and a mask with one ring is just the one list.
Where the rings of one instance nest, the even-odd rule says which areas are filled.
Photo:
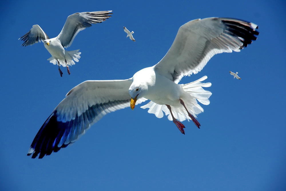
[[33, 45], [38, 42], [43, 42], [46, 39], [49, 39], [47, 34], [41, 29], [39, 25], [33, 25], [31, 30], [27, 32], [24, 36], [19, 38], [18, 40], [23, 40], [24, 43], [22, 46], [28, 46], [28, 45]]

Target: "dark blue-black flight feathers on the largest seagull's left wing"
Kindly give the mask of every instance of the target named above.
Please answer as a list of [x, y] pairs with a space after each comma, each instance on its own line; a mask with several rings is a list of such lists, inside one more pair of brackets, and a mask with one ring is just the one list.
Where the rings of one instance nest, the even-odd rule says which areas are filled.
[[43, 158], [75, 142], [90, 128], [96, 117], [100, 115], [103, 117], [103, 112], [106, 113], [109, 108], [116, 105], [128, 107], [130, 99], [93, 105], [82, 115], [76, 115], [75, 119], [66, 122], [57, 121], [57, 110], [53, 111], [35, 136], [30, 148], [33, 152], [29, 151], [28, 156], [33, 154], [32, 158], [35, 158], [40, 153], [39, 158]]

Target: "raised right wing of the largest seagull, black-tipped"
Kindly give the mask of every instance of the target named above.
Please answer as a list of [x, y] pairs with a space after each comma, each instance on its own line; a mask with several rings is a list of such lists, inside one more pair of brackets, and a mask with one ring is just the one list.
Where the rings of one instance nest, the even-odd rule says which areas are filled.
[[231, 18], [196, 19], [182, 25], [167, 52], [154, 67], [161, 74], [179, 82], [182, 76], [196, 74], [215, 54], [239, 52], [256, 40], [254, 23]]

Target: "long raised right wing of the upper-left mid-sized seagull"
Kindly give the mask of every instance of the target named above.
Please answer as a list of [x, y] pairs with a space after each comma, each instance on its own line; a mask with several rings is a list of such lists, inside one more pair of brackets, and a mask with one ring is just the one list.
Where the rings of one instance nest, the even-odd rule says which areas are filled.
[[69, 15], [57, 38], [61, 41], [61, 45], [67, 48], [71, 46], [79, 31], [91, 27], [91, 24], [105, 21], [111, 17], [111, 14], [111, 11], [94, 11]]

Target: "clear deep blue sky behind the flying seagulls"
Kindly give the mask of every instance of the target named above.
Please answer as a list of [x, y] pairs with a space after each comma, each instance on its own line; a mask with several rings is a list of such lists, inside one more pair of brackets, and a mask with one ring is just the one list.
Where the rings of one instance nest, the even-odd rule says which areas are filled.
[[[285, 1], [255, 0], [2, 2], [0, 190], [285, 190], [285, 8]], [[61, 68], [60, 77], [43, 43], [22, 47], [18, 40], [34, 24], [53, 38], [67, 16], [103, 10], [113, 10], [112, 17], [81, 31], [67, 49], [82, 52], [70, 76]], [[184, 121], [183, 135], [166, 116], [138, 105], [106, 115], [57, 153], [26, 156], [70, 89], [153, 66], [181, 25], [206, 17], [251, 21], [260, 34], [241, 52], [216, 55], [182, 78], [207, 75], [212, 83], [200, 129]], [[125, 38], [123, 26], [136, 42]]]

